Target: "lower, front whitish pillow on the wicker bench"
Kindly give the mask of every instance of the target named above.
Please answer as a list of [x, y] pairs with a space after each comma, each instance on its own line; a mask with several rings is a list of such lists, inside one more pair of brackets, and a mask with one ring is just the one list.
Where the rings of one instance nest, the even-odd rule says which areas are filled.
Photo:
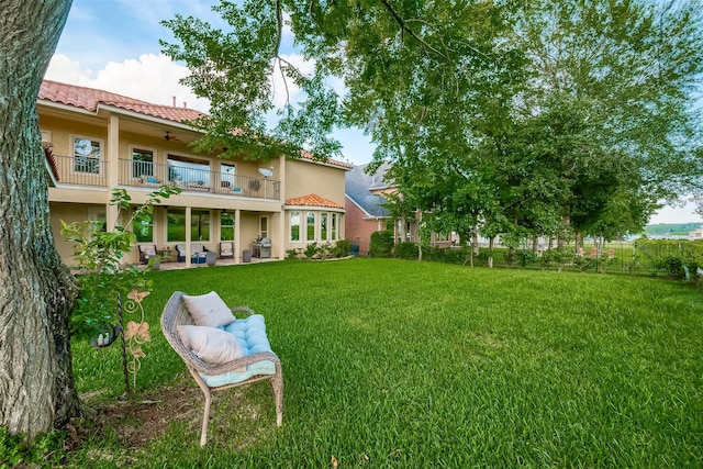
[[[210, 365], [223, 365], [246, 356], [236, 337], [214, 327], [178, 326], [178, 335], [187, 348]], [[246, 367], [237, 369], [246, 371]]]

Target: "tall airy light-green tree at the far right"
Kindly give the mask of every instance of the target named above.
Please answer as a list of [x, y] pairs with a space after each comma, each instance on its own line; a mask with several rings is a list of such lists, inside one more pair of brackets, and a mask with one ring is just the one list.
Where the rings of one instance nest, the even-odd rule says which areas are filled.
[[533, 146], [551, 146], [555, 167], [570, 168], [560, 171], [561, 214], [574, 231], [596, 234], [615, 204], [632, 214], [611, 217], [610, 231], [638, 231], [632, 222], [646, 223], [658, 200], [700, 190], [692, 104], [703, 71], [702, 7], [535, 0], [515, 16], [529, 79], [513, 115], [523, 127], [542, 121]]

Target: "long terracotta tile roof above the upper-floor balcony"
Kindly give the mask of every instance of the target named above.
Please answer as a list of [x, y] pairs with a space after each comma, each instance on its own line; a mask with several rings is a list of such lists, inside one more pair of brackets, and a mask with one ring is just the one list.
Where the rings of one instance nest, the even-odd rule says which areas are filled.
[[153, 104], [122, 94], [76, 85], [59, 83], [58, 81], [44, 80], [40, 88], [40, 99], [74, 105], [88, 111], [97, 111], [100, 104], [112, 105], [140, 114], [165, 119], [167, 121], [183, 122], [203, 115], [194, 109], [177, 108], [174, 105]]

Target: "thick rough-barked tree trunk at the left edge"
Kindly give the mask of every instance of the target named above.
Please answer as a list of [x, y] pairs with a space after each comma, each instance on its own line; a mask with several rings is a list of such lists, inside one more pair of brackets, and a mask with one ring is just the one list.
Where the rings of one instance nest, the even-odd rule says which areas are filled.
[[0, 3], [0, 425], [32, 439], [79, 414], [36, 98], [71, 0]]

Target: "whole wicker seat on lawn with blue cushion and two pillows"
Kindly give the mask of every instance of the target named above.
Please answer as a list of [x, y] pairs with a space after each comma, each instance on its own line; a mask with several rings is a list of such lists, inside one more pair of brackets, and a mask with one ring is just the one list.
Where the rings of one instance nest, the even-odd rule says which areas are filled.
[[[235, 320], [232, 313], [246, 313], [248, 317]], [[276, 401], [276, 425], [281, 426], [283, 375], [266, 336], [264, 316], [244, 306], [230, 309], [215, 292], [189, 297], [177, 291], [164, 308], [161, 330], [205, 397], [200, 446], [204, 446], [208, 438], [214, 391], [269, 380]], [[196, 344], [194, 334], [204, 334], [204, 337]]]

